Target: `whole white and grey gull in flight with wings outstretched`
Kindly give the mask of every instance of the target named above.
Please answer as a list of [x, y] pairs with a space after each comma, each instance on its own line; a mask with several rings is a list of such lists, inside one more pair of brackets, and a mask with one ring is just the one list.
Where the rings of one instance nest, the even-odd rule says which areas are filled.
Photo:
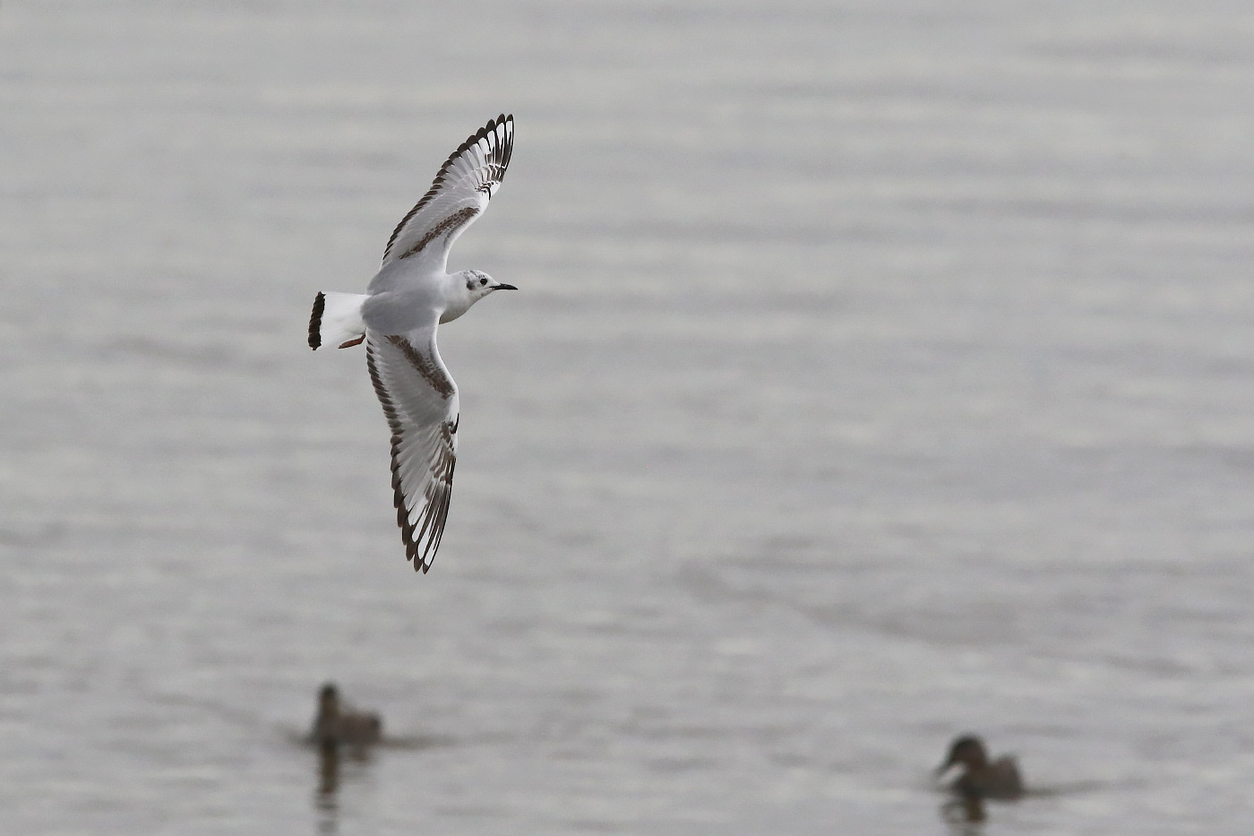
[[488, 206], [509, 166], [514, 118], [492, 119], [453, 152], [396, 226], [365, 294], [319, 294], [310, 346], [366, 343], [366, 365], [393, 437], [393, 488], [405, 556], [431, 567], [444, 535], [460, 423], [458, 387], [435, 331], [495, 290], [478, 270], [448, 272], [453, 241]]

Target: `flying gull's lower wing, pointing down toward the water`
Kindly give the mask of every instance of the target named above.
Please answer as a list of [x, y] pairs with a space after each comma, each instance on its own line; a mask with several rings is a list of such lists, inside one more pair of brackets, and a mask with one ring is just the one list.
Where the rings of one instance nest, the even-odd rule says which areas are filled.
[[458, 387], [435, 328], [401, 335], [366, 330], [366, 365], [393, 431], [393, 490], [405, 557], [424, 572], [444, 536], [458, 459]]

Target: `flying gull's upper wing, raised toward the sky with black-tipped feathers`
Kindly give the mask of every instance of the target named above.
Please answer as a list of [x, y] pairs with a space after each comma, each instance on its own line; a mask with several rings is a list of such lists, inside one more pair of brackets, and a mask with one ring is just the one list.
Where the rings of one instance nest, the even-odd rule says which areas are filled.
[[384, 264], [401, 259], [429, 261], [445, 270], [449, 247], [488, 207], [505, 176], [514, 149], [514, 117], [500, 114], [458, 146], [431, 188], [396, 225]]

